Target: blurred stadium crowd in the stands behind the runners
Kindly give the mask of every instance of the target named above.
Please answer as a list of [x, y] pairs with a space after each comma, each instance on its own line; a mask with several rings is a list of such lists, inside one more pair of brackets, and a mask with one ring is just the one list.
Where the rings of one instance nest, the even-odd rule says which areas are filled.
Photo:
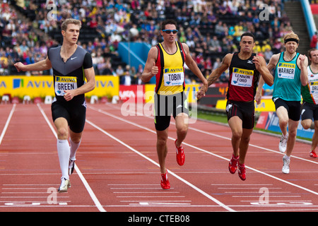
[[[122, 76], [121, 83], [140, 83], [139, 69], [120, 61], [119, 42], [162, 41], [160, 23], [177, 20], [179, 41], [185, 42], [205, 76], [228, 52], [237, 51], [242, 32], [257, 38], [255, 52], [268, 61], [282, 51], [281, 38], [292, 30], [281, 0], [0, 0], [0, 74], [18, 74], [13, 64], [40, 61], [49, 47], [61, 44], [64, 18], [82, 21], [78, 44], [92, 54], [97, 75]], [[267, 4], [269, 18], [259, 16]], [[57, 9], [55, 11], [55, 9]], [[53, 18], [53, 19], [48, 19]], [[187, 70], [187, 83], [194, 77]], [[30, 74], [49, 74], [32, 71]], [[124, 79], [124, 77], [130, 79]], [[228, 74], [221, 76], [227, 81]]]

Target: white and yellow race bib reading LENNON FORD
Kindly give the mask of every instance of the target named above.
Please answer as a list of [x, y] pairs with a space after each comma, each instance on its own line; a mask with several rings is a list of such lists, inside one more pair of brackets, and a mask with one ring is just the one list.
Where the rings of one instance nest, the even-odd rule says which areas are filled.
[[233, 68], [231, 85], [252, 87], [253, 70]]

